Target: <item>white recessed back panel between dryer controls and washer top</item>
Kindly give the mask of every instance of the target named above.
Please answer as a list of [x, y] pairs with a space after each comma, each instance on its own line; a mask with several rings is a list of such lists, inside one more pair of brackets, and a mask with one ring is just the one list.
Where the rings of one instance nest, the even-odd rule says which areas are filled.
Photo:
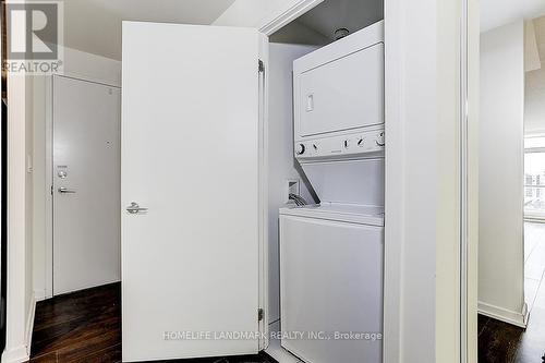
[[384, 158], [302, 164], [322, 202], [384, 206]]

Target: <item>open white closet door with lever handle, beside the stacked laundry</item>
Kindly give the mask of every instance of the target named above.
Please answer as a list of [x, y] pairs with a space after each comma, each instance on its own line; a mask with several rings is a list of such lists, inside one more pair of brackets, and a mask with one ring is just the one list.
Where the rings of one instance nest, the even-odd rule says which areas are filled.
[[259, 350], [263, 40], [123, 23], [123, 361]]

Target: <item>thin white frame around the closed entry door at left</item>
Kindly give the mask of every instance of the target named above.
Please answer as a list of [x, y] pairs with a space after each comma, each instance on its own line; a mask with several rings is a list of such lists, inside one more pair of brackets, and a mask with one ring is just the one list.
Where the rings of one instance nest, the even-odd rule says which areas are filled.
[[44, 299], [53, 297], [53, 77], [71, 78], [80, 82], [94, 83], [108, 87], [121, 89], [120, 84], [114, 82], [105, 83], [104, 80], [89, 78], [78, 75], [48, 75], [45, 80], [45, 129], [46, 129], [46, 169], [44, 193], [46, 196], [46, 237], [45, 237], [45, 291]]

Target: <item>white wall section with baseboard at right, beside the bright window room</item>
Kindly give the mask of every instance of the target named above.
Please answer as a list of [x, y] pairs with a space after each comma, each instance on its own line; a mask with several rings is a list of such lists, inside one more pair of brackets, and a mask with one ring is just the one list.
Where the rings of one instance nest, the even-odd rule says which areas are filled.
[[480, 312], [524, 324], [524, 24], [481, 35]]

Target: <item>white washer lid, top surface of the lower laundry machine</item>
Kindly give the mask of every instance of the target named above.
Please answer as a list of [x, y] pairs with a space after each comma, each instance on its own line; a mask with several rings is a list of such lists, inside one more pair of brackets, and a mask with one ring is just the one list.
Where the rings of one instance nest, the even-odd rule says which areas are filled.
[[280, 215], [384, 227], [384, 207], [379, 206], [322, 203], [280, 208]]

